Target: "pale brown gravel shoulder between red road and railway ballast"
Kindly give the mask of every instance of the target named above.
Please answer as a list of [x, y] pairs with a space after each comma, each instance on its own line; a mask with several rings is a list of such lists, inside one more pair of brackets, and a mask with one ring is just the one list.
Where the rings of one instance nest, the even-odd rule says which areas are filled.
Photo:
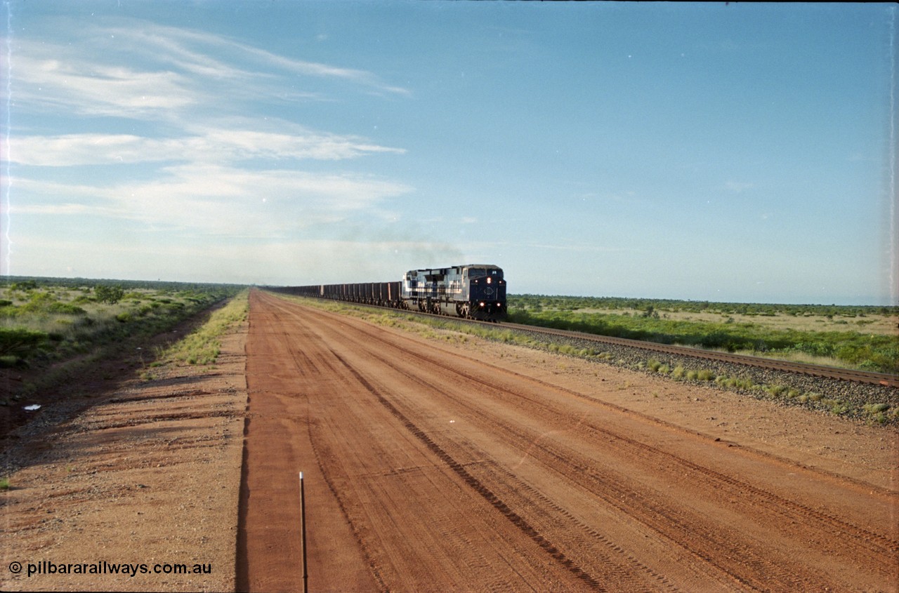
[[[523, 347], [497, 348], [494, 342], [471, 341], [467, 348], [475, 358], [498, 367], [528, 367], [533, 369], [533, 376], [547, 383], [601, 394], [603, 402], [628, 413], [720, 438], [786, 463], [876, 486], [894, 495], [899, 493], [899, 430], [895, 427], [873, 426], [713, 385], [684, 384]], [[808, 379], [797, 378], [804, 380]], [[895, 398], [896, 394], [890, 396]]]

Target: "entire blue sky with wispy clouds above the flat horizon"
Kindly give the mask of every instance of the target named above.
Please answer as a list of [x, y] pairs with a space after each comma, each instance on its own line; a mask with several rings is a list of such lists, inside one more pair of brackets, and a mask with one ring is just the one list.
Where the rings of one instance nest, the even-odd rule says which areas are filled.
[[896, 12], [4, 2], [0, 273], [896, 304]]

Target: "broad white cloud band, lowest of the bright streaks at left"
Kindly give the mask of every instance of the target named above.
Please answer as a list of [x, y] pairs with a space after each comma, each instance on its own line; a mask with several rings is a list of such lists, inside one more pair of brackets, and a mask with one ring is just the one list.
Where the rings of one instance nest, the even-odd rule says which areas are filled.
[[153, 181], [111, 186], [22, 179], [40, 198], [13, 202], [13, 215], [79, 215], [190, 229], [198, 235], [271, 237], [335, 224], [377, 209], [411, 188], [343, 173], [247, 171], [211, 164], [165, 167]]

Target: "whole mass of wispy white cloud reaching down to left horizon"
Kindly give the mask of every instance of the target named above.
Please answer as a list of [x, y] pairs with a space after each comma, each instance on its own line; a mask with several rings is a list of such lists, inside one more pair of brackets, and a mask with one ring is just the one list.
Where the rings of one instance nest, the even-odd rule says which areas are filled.
[[[200, 250], [203, 273], [216, 279], [240, 266], [267, 273], [260, 262], [282, 262], [284, 250], [313, 260], [427, 250], [414, 241], [375, 241], [364, 250], [345, 241], [348, 227], [380, 225], [396, 199], [414, 190], [351, 163], [404, 155], [404, 148], [260, 109], [328, 102], [338, 92], [403, 96], [405, 89], [364, 70], [206, 32], [126, 20], [59, 23], [70, 26], [58, 39], [22, 35], [7, 56], [6, 100], [31, 121], [52, 119], [19, 128], [0, 154], [13, 172], [4, 203], [13, 231], [25, 227], [22, 217], [46, 229], [40, 237], [13, 232], [4, 247], [14, 268], [37, 273], [79, 252], [66, 267], [75, 274], [98, 273], [85, 270], [91, 261], [105, 277], [129, 278], [128, 262], [150, 270], [161, 258], [160, 275], [191, 279], [191, 253]], [[75, 230], [85, 228], [95, 239]], [[279, 265], [269, 271], [279, 273]], [[259, 279], [253, 276], [247, 280]]]

